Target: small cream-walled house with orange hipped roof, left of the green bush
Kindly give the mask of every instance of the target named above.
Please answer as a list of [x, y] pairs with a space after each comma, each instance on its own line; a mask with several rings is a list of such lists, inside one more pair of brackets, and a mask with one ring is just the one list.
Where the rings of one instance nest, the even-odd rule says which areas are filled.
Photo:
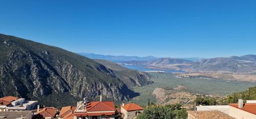
[[136, 105], [135, 103], [122, 104], [121, 113], [123, 119], [132, 119], [136, 118], [139, 114], [143, 113], [144, 108]]

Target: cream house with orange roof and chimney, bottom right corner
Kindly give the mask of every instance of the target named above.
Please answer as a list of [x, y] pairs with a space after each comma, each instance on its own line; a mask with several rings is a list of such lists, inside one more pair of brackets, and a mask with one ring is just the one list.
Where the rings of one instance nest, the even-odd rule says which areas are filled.
[[253, 119], [256, 118], [256, 102], [239, 100], [238, 103], [229, 104], [229, 115], [238, 119]]

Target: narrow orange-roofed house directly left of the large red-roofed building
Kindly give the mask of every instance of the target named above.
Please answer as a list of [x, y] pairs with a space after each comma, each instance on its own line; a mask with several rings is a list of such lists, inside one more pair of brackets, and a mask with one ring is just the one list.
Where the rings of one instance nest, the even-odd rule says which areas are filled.
[[74, 106], [62, 107], [59, 113], [59, 117], [62, 119], [73, 119], [75, 109], [76, 107]]

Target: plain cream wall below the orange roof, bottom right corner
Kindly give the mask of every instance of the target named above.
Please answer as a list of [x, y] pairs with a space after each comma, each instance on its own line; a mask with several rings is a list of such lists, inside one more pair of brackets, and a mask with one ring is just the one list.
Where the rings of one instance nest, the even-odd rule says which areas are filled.
[[246, 112], [244, 110], [241, 110], [232, 106], [229, 106], [229, 115], [237, 119], [255, 119], [256, 118], [255, 114]]

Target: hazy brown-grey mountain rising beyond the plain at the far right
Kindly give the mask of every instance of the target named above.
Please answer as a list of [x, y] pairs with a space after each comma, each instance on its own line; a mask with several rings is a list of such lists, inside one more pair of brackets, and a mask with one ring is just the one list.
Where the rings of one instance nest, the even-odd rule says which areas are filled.
[[223, 72], [247, 74], [256, 72], [256, 55], [203, 59], [189, 65], [189, 72]]

